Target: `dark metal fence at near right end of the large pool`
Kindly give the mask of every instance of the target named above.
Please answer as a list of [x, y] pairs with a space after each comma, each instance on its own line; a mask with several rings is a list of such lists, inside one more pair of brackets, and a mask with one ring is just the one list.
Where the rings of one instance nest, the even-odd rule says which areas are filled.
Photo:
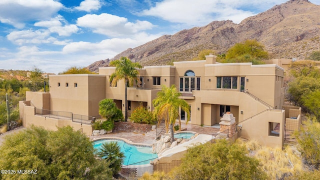
[[143, 175], [144, 172], [153, 173], [154, 163], [158, 158], [152, 158], [129, 165], [123, 165], [119, 172], [121, 176], [128, 180], [136, 180]]

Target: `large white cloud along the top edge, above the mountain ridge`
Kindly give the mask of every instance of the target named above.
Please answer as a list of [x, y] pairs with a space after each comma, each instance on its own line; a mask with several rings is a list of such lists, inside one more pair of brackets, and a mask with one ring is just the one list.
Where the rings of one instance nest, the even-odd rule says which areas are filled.
[[139, 14], [191, 27], [202, 26], [213, 20], [229, 19], [239, 23], [244, 18], [279, 3], [279, 0], [163, 0]]

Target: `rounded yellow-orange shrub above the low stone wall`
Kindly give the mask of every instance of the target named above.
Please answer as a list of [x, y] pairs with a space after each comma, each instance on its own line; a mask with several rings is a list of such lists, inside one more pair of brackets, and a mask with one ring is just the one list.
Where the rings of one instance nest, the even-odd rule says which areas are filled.
[[152, 112], [143, 106], [136, 107], [131, 113], [130, 119], [135, 123], [154, 124], [155, 122]]

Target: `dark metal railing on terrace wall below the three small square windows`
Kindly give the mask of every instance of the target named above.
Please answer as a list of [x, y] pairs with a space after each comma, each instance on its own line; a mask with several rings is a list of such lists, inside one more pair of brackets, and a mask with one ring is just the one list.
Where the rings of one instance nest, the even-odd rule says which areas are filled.
[[73, 122], [79, 123], [91, 123], [93, 119], [92, 116], [89, 115], [80, 115], [68, 111], [55, 111], [41, 108], [35, 108], [35, 114], [56, 119], [70, 119]]

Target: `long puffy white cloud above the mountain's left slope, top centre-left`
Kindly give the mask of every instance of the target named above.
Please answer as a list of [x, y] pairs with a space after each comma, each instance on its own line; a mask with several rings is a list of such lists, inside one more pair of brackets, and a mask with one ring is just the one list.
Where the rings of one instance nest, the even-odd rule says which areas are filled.
[[101, 13], [99, 15], [86, 14], [77, 19], [77, 25], [92, 28], [93, 32], [110, 37], [117, 37], [119, 35], [131, 36], [136, 32], [153, 27], [152, 23], [145, 20], [137, 20], [135, 23], [128, 22], [125, 17], [108, 13]]

